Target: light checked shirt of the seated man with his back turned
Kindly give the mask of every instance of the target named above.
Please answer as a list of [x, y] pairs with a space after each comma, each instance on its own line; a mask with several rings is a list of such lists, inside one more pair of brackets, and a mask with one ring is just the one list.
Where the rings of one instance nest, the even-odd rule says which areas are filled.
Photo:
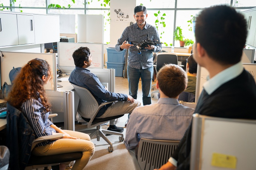
[[193, 113], [176, 98], [159, 98], [155, 104], [136, 107], [126, 127], [126, 149], [136, 148], [140, 138], [181, 140]]

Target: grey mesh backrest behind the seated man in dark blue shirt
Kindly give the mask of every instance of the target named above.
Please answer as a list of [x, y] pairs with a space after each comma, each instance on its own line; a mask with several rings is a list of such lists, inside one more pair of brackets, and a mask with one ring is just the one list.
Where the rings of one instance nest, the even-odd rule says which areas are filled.
[[82, 88], [74, 84], [72, 85], [80, 98], [77, 109], [79, 115], [84, 118], [93, 119], [93, 115], [99, 106], [96, 99], [86, 88]]

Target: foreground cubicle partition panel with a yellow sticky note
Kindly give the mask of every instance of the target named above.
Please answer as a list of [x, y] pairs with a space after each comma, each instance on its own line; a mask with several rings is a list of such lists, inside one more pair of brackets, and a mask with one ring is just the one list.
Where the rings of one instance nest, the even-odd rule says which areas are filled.
[[256, 120], [204, 116], [192, 121], [190, 170], [256, 167]]

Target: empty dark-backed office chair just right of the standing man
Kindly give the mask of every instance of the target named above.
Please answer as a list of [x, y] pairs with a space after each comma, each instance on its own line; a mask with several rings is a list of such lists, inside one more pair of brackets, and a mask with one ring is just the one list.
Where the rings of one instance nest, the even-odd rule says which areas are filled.
[[[178, 57], [177, 54], [171, 52], [160, 52], [157, 54], [157, 63], [154, 66], [156, 73], [165, 65], [165, 64], [176, 64], [178, 65]], [[151, 86], [151, 89], [154, 90], [155, 84]], [[151, 97], [155, 95], [153, 93], [159, 92], [158, 90], [151, 92]]]

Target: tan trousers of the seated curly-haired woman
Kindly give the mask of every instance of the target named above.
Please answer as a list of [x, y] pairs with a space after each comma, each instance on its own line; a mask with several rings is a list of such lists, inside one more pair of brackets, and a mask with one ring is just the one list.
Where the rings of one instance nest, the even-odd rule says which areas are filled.
[[58, 139], [55, 142], [38, 146], [33, 149], [32, 153], [37, 156], [63, 154], [69, 152], [83, 152], [82, 158], [76, 160], [72, 169], [82, 170], [94, 154], [94, 144], [90, 141], [90, 136], [85, 133], [64, 130], [70, 136], [79, 137], [80, 139]]

